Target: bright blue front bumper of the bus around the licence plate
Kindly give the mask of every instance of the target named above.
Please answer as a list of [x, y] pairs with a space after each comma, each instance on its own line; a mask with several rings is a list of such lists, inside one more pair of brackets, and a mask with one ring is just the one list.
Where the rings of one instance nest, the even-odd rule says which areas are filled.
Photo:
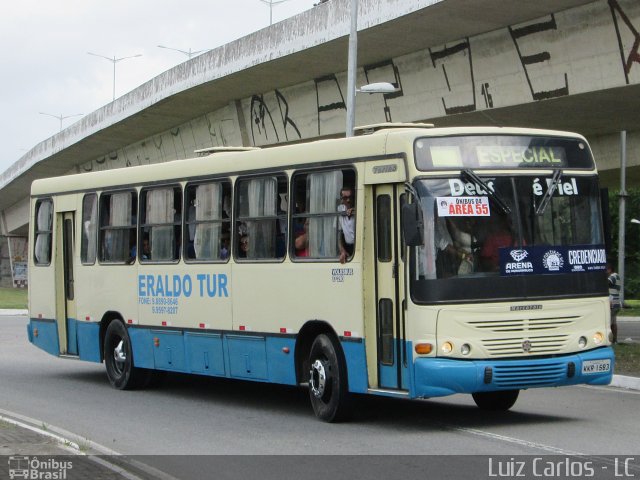
[[[610, 360], [610, 371], [583, 374], [582, 363], [588, 360]], [[423, 357], [414, 362], [411, 396], [428, 398], [536, 387], [608, 385], [613, 368], [614, 355], [610, 347], [545, 359], [465, 361]], [[491, 378], [487, 383], [489, 369]]]

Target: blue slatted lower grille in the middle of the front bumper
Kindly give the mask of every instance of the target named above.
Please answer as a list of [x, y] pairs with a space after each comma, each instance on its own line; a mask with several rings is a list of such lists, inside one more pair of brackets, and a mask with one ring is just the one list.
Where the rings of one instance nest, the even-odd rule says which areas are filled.
[[493, 369], [493, 383], [499, 387], [542, 387], [566, 379], [567, 367], [558, 362], [546, 365], [498, 365]]

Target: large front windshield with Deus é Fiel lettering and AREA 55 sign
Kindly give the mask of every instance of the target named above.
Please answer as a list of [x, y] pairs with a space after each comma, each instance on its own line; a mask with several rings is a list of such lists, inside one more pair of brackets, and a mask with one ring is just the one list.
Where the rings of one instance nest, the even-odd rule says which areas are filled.
[[425, 225], [411, 258], [414, 301], [606, 295], [595, 176], [463, 170], [414, 186]]

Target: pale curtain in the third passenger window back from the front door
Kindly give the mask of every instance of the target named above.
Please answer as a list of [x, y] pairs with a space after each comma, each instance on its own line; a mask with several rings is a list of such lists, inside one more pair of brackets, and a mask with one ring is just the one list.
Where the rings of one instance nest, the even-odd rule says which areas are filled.
[[220, 223], [222, 185], [209, 183], [196, 188], [196, 223], [194, 250], [197, 259], [217, 259], [220, 256]]

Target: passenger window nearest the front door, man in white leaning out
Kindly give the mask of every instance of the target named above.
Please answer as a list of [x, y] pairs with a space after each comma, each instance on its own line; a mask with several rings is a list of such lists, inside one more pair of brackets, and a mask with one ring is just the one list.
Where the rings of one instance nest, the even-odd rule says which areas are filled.
[[348, 261], [355, 247], [355, 199], [353, 170], [294, 176], [292, 256]]

